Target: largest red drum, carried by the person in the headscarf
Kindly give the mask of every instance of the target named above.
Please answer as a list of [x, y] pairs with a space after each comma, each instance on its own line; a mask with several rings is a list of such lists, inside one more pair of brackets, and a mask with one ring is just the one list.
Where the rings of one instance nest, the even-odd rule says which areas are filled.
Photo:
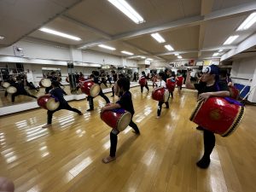
[[245, 108], [231, 104], [222, 97], [210, 97], [207, 102], [198, 102], [190, 120], [222, 137], [230, 136], [243, 118]]

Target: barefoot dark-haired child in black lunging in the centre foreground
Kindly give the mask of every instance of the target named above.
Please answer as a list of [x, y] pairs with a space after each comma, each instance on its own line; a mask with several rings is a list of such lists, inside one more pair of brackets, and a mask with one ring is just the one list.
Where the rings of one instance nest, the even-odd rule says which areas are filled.
[[[119, 92], [122, 92], [122, 95], [114, 104], [109, 104], [102, 108], [102, 112], [105, 110], [113, 110], [115, 108], [124, 108], [126, 111], [131, 113], [131, 122], [129, 126], [134, 130], [134, 132], [139, 135], [140, 131], [137, 125], [132, 121], [132, 116], [135, 113], [133, 108], [133, 103], [131, 100], [131, 92], [130, 92], [130, 80], [126, 78], [121, 78], [117, 81], [117, 86], [119, 88]], [[117, 129], [113, 129], [110, 132], [110, 154], [108, 157], [102, 159], [103, 163], [109, 163], [112, 160], [115, 160], [116, 146], [118, 142], [117, 135], [119, 131]]]

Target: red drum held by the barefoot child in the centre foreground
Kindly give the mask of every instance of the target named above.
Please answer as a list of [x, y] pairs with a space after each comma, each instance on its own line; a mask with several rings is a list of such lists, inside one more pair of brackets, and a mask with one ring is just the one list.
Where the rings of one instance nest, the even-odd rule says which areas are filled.
[[103, 111], [101, 119], [113, 129], [124, 131], [131, 122], [131, 113], [123, 108], [118, 108], [111, 111]]

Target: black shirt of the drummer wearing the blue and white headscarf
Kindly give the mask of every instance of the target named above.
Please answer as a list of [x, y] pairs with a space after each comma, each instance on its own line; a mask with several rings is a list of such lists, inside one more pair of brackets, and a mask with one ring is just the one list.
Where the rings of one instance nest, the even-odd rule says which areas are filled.
[[218, 84], [213, 84], [212, 86], [207, 86], [207, 83], [200, 82], [199, 84], [194, 84], [195, 90], [198, 90], [198, 94], [206, 93], [206, 92], [216, 92], [221, 90], [229, 90], [229, 87], [227, 84], [224, 84], [224, 82], [218, 82]]

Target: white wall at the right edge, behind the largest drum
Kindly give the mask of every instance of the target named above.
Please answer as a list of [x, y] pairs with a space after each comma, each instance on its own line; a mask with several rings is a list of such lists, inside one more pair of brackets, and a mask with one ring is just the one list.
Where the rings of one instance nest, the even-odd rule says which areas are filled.
[[[241, 78], [232, 79], [234, 83], [250, 85], [252, 90], [253, 86], [256, 85], [256, 56], [233, 61], [230, 74], [231, 78]], [[253, 81], [249, 83], [247, 80], [242, 79], [253, 79]], [[248, 101], [256, 102], [255, 89], [248, 96]]]

